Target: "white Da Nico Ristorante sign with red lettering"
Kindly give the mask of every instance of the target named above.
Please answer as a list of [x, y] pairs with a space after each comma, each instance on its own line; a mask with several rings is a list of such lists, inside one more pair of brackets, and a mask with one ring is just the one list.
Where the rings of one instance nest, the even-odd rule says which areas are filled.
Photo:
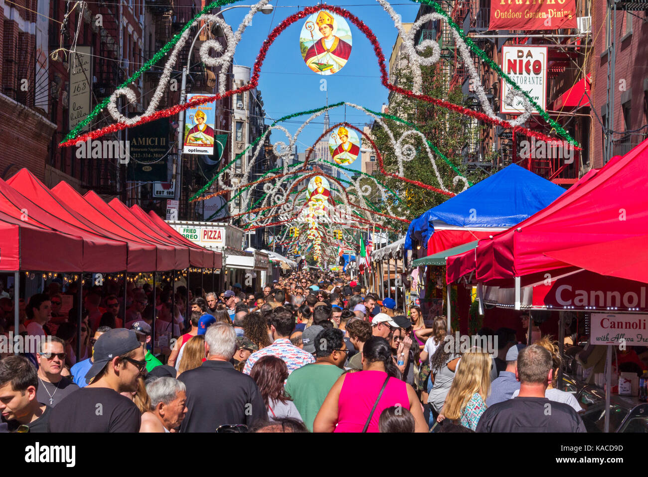
[[[546, 109], [547, 103], [547, 51], [546, 46], [502, 47], [502, 70], [543, 110]], [[513, 87], [503, 79], [500, 90], [502, 91], [500, 112], [506, 114], [524, 113], [522, 97], [513, 97], [511, 104], [506, 104], [507, 97], [511, 94]], [[533, 110], [533, 113], [537, 114], [537, 110]]]

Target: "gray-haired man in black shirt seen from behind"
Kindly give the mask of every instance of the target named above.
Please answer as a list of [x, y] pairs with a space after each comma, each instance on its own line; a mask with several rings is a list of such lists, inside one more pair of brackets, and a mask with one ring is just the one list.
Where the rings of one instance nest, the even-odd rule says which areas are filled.
[[251, 424], [268, 419], [256, 382], [229, 362], [237, 350], [237, 334], [227, 323], [214, 323], [205, 333], [207, 361], [185, 371], [187, 416], [180, 432], [215, 432], [220, 426]]

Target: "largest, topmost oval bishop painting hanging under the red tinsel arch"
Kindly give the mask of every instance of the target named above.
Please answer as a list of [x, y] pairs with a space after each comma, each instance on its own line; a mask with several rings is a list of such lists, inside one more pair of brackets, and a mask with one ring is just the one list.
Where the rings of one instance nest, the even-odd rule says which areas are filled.
[[351, 55], [351, 29], [339, 15], [320, 10], [301, 28], [299, 49], [306, 66], [319, 75], [342, 69]]

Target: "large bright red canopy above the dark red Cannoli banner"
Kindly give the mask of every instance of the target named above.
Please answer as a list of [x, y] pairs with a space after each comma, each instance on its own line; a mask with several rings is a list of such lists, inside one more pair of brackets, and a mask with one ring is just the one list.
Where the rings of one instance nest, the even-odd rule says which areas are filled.
[[[476, 249], [476, 279], [500, 286], [511, 286], [513, 278], [520, 276], [527, 276], [533, 282], [546, 272], [573, 267], [571, 262], [564, 261], [569, 252], [560, 251], [574, 245], [580, 248], [620, 243], [616, 241], [645, 236], [648, 234], [647, 169], [648, 140], [645, 140], [625, 156], [586, 175], [529, 219], [492, 239], [481, 239]], [[626, 243], [632, 244], [631, 250], [636, 252], [640, 241]], [[605, 246], [581, 249], [579, 256], [600, 247]], [[626, 262], [627, 259], [628, 256]], [[610, 267], [607, 269], [612, 271]]]

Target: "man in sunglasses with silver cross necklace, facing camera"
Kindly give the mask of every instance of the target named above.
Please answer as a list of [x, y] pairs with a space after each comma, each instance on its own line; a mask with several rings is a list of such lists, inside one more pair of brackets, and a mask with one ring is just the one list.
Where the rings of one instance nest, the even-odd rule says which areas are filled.
[[70, 378], [61, 376], [65, 365], [65, 341], [52, 336], [41, 342], [38, 353], [36, 399], [53, 408], [64, 397], [79, 389]]

